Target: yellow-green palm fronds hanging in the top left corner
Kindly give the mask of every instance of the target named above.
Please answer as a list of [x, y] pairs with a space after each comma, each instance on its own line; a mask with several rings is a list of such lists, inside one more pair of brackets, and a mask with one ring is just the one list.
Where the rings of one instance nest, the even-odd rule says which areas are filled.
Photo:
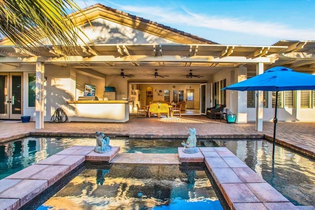
[[[78, 34], [85, 33], [75, 25], [67, 11], [80, 10], [73, 0], [0, 0], [0, 33], [18, 48], [44, 46], [75, 52]], [[66, 46], [66, 47], [65, 47]]]

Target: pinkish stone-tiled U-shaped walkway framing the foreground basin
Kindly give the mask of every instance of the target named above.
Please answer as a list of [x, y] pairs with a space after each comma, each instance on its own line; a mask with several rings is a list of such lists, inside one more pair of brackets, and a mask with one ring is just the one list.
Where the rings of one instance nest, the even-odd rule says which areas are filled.
[[[119, 163], [116, 158], [118, 154], [128, 156], [125, 162], [121, 163], [204, 162], [232, 210], [299, 209], [225, 147], [198, 148], [198, 152], [194, 154], [184, 153], [183, 148], [178, 148], [177, 155], [142, 154], [142, 159], [147, 161], [144, 163], [137, 158], [134, 162], [131, 161], [132, 157], [139, 154], [119, 153], [119, 150], [120, 147], [113, 147], [110, 152], [100, 154], [94, 151], [94, 146], [72, 146], [12, 174], [0, 180], [0, 209], [16, 210], [23, 207], [85, 161]], [[156, 155], [162, 155], [164, 158], [158, 158]], [[167, 156], [174, 161], [165, 161]]]

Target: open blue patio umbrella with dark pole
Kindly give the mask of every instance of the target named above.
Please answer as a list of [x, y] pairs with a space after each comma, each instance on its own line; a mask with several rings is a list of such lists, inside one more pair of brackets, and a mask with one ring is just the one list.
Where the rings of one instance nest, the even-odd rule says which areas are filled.
[[295, 72], [290, 68], [277, 66], [248, 80], [227, 86], [222, 90], [266, 90], [276, 91], [274, 136], [272, 159], [275, 157], [278, 92], [284, 90], [315, 90], [315, 75]]

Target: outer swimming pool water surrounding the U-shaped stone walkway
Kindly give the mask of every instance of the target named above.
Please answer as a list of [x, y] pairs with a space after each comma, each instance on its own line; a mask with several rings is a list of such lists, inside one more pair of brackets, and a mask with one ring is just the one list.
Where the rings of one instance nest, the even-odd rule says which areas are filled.
[[[120, 152], [177, 153], [181, 141], [112, 139]], [[315, 205], [315, 161], [265, 140], [198, 140], [200, 147], [227, 147], [294, 205]], [[72, 145], [95, 145], [94, 138], [25, 138], [0, 144], [1, 179]]]

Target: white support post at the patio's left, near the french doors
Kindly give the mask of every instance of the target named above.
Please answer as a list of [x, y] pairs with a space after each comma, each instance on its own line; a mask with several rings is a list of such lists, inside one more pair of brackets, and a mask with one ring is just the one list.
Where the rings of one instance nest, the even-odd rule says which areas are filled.
[[35, 128], [44, 128], [44, 63], [36, 62]]

